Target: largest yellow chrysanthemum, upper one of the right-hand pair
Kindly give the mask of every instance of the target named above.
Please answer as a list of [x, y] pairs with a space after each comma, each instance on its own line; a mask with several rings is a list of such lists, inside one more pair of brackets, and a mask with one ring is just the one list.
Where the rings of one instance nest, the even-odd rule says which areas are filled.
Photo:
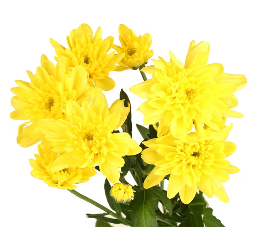
[[242, 117], [230, 110], [238, 104], [233, 94], [246, 85], [244, 75], [224, 73], [219, 63], [207, 65], [209, 43], [198, 45], [192, 41], [185, 66], [170, 52], [171, 60], [153, 60], [154, 66], [142, 69], [152, 74], [130, 91], [140, 98], [146, 98], [140, 107], [144, 114], [144, 124], [160, 121], [158, 136], [169, 130], [176, 138], [185, 139], [193, 123], [204, 133], [202, 124], [220, 130], [212, 122], [222, 121], [222, 117]]

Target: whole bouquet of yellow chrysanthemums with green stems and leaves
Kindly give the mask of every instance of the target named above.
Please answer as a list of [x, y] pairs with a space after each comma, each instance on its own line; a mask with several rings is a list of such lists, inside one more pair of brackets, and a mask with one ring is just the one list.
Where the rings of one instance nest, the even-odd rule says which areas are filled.
[[[232, 124], [226, 126], [226, 119], [243, 117], [232, 109], [245, 76], [208, 64], [204, 41], [190, 43], [184, 64], [169, 52], [170, 60], [159, 57], [147, 66], [150, 34], [136, 36], [121, 24], [119, 40], [117, 46], [111, 36], [102, 39], [101, 28], [93, 35], [81, 24], [67, 36], [66, 47], [50, 39], [56, 65], [42, 55], [35, 75], [27, 72], [29, 82], [16, 80], [11, 118], [26, 120], [18, 127], [17, 144], [39, 142], [29, 160], [31, 175], [102, 209], [87, 214], [96, 218], [96, 227], [224, 227], [204, 195], [227, 203], [222, 184], [239, 172], [226, 159], [236, 150], [227, 141]], [[128, 69], [143, 78], [130, 88], [144, 99], [139, 110], [148, 127], [137, 124], [141, 144], [132, 138], [128, 95], [121, 89], [109, 107], [103, 93], [115, 86], [110, 72]], [[75, 190], [96, 172], [106, 177], [111, 210]], [[128, 172], [134, 184], [125, 179]]]

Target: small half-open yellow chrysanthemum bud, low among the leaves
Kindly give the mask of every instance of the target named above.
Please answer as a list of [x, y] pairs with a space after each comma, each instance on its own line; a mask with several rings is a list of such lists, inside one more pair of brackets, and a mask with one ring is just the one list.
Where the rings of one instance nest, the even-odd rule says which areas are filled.
[[130, 184], [117, 183], [111, 188], [110, 195], [116, 202], [127, 204], [134, 198], [134, 190]]

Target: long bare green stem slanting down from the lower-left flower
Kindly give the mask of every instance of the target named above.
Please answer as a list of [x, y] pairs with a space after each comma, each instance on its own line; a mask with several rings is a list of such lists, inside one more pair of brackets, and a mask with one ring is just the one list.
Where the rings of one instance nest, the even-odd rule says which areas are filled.
[[125, 218], [122, 218], [121, 216], [117, 215], [116, 213], [114, 213], [113, 211], [109, 210], [107, 207], [102, 206], [101, 204], [97, 203], [96, 201], [86, 197], [85, 195], [80, 194], [79, 192], [77, 192], [76, 190], [68, 190], [70, 191], [70, 193], [76, 195], [78, 198], [83, 199], [84, 201], [87, 201], [90, 204], [93, 204], [96, 207], [99, 207], [99, 209], [105, 211], [106, 213], [108, 213], [109, 215], [113, 216], [114, 218], [118, 219], [119, 221], [121, 221], [123, 224], [131, 226], [131, 222], [126, 220]]

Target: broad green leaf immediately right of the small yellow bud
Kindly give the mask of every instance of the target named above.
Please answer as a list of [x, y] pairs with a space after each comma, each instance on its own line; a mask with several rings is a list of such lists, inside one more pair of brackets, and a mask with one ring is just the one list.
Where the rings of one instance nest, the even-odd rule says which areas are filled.
[[136, 193], [127, 210], [132, 212], [132, 227], [157, 227], [152, 189]]

